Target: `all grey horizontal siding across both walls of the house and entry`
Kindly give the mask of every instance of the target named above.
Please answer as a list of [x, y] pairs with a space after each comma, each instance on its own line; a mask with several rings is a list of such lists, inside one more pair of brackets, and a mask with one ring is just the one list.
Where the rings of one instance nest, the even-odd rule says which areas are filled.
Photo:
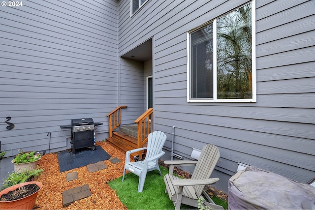
[[[216, 176], [246, 163], [307, 182], [315, 177], [315, 1], [255, 0], [256, 102], [187, 102], [187, 31], [249, 0], [154, 1], [130, 17], [130, 0], [36, 1], [0, 7], [1, 149], [65, 150], [71, 119], [93, 118], [96, 140], [120, 105], [123, 124], [146, 109], [153, 76], [154, 128], [167, 135], [162, 159], [190, 159], [218, 146]], [[152, 59], [120, 56], [152, 38]], [[27, 145], [27, 148], [25, 148]], [[32, 148], [31, 148], [32, 147]], [[31, 149], [30, 149], [31, 148]], [[190, 170], [190, 169], [188, 169]], [[216, 187], [227, 192], [227, 181]]]

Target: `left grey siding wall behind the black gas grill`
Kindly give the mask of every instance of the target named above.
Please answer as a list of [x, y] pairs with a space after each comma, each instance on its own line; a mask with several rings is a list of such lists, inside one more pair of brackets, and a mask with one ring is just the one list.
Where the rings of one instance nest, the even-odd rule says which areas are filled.
[[[18, 149], [60, 151], [71, 132], [60, 125], [104, 123], [118, 105], [118, 3], [23, 0], [0, 7], [0, 141]], [[105, 15], [106, 14], [106, 15]], [[6, 117], [15, 128], [6, 129]], [[50, 145], [49, 145], [50, 142]]]

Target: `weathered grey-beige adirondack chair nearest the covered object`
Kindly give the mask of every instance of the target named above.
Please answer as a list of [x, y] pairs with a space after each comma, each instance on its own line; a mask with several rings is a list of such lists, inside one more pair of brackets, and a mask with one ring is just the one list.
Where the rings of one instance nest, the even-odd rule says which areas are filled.
[[[165, 160], [164, 163], [170, 165], [169, 174], [165, 175], [166, 185], [165, 193], [168, 193], [169, 199], [173, 201], [176, 210], [179, 210], [181, 204], [198, 207], [198, 198], [201, 198], [204, 206], [210, 206], [213, 209], [223, 209], [216, 205], [210, 196], [204, 191], [206, 184], [213, 184], [219, 181], [219, 178], [210, 178], [220, 157], [219, 149], [214, 145], [205, 145], [201, 151], [198, 161], [193, 160]], [[191, 179], [181, 179], [173, 175], [175, 165], [189, 166], [195, 165]], [[208, 202], [204, 199], [208, 200]]]

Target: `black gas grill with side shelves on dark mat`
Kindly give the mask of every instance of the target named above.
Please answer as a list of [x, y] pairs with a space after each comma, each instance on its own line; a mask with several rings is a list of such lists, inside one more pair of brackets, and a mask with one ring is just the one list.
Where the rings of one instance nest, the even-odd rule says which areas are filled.
[[75, 150], [81, 148], [91, 147], [92, 150], [95, 150], [94, 130], [96, 126], [102, 124], [101, 122], [94, 122], [92, 118], [72, 119], [71, 125], [61, 125], [60, 128], [71, 129], [70, 143], [74, 153]]

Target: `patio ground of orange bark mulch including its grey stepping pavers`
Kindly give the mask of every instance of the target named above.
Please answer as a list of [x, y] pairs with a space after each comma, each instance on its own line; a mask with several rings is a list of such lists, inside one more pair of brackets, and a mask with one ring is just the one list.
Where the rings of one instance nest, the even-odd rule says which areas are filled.
[[[44, 169], [37, 181], [43, 183], [39, 191], [35, 209], [126, 209], [117, 194], [107, 184], [123, 175], [126, 154], [113, 148], [107, 142], [96, 142], [111, 158], [100, 163], [60, 172], [57, 153], [48, 153], [42, 156], [38, 165]], [[13, 159], [1, 160], [1, 180], [14, 170]], [[179, 176], [188, 178], [189, 174], [181, 170], [174, 171]], [[81, 190], [77, 190], [81, 189]], [[73, 199], [66, 200], [69, 192]], [[212, 192], [218, 196], [218, 190]], [[76, 194], [78, 193], [78, 194]], [[219, 191], [219, 197], [227, 199], [227, 195]]]

